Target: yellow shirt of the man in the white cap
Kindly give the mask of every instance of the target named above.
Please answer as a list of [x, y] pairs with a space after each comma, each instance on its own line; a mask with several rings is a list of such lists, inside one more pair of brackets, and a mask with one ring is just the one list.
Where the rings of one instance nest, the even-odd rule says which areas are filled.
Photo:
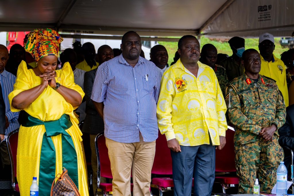
[[273, 55], [273, 60], [268, 62], [266, 61], [261, 55], [261, 69], [259, 74], [272, 78], [276, 81], [279, 90], [281, 91], [285, 106], [288, 107], [289, 105], [289, 97], [288, 97], [288, 87], [286, 81], [286, 67], [283, 61], [275, 55]]

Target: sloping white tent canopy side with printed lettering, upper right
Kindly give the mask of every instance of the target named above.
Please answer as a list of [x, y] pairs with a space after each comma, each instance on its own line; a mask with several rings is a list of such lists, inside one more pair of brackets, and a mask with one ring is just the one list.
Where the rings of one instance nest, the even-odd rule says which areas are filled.
[[261, 33], [289, 37], [294, 31], [293, 0], [237, 0], [206, 29], [207, 35], [258, 37]]

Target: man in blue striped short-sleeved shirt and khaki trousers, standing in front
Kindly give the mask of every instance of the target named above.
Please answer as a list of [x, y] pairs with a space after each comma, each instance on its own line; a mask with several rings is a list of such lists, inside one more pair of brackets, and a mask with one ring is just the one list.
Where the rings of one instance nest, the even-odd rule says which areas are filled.
[[140, 57], [141, 38], [125, 33], [122, 54], [98, 67], [91, 99], [105, 124], [113, 175], [113, 195], [150, 195], [151, 168], [158, 137], [156, 66]]

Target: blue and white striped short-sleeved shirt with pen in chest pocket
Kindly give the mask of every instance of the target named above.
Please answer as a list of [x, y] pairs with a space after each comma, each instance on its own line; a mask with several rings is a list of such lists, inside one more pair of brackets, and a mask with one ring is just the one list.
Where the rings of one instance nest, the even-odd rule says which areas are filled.
[[121, 143], [145, 142], [158, 137], [156, 103], [160, 81], [156, 66], [139, 57], [132, 67], [122, 54], [97, 70], [91, 99], [104, 104], [104, 135]]

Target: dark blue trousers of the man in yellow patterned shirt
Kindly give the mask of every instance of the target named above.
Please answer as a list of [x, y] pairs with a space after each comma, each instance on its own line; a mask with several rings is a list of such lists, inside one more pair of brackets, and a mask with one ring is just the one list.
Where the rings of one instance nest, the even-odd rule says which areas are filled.
[[194, 195], [210, 196], [215, 177], [215, 146], [181, 146], [181, 151], [171, 151], [174, 196], [191, 195], [193, 177]]

